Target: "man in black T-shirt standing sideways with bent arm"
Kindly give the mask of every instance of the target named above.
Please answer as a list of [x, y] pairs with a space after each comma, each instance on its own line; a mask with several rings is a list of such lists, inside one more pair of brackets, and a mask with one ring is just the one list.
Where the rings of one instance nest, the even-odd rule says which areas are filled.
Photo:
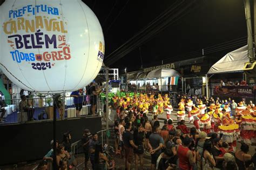
[[126, 123], [125, 131], [123, 133], [123, 141], [124, 141], [124, 151], [125, 151], [125, 168], [127, 170], [131, 169], [131, 162], [133, 159], [133, 148], [138, 149], [133, 142], [133, 135], [131, 131], [131, 123]]

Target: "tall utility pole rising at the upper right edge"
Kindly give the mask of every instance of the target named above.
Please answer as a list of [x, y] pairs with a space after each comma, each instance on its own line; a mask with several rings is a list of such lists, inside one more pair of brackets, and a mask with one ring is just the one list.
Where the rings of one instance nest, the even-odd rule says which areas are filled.
[[[255, 60], [255, 57], [254, 57], [254, 50], [253, 50], [250, 0], [245, 0], [245, 18], [246, 18], [247, 36], [248, 36], [248, 57], [250, 59], [250, 62], [253, 62], [253, 60]], [[255, 18], [254, 18], [254, 21], [255, 21]], [[254, 26], [254, 30], [255, 30], [255, 26]]]

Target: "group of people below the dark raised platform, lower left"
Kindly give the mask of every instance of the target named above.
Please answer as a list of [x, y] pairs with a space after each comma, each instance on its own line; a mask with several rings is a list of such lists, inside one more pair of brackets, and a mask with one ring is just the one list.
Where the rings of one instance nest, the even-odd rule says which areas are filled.
[[[80, 147], [80, 146], [79, 146]], [[85, 129], [81, 139], [81, 147], [84, 152], [84, 167], [89, 169], [88, 162], [90, 160], [92, 169], [114, 169], [115, 162], [110, 155], [105, 154], [104, 148], [99, 141], [98, 134], [91, 134], [90, 130]], [[51, 149], [39, 163], [38, 170], [58, 169], [68, 170], [77, 169], [78, 161], [76, 160], [71, 148], [71, 132], [63, 134], [63, 140], [56, 141], [56, 163], [57, 167], [53, 167], [53, 140], [51, 141]]]

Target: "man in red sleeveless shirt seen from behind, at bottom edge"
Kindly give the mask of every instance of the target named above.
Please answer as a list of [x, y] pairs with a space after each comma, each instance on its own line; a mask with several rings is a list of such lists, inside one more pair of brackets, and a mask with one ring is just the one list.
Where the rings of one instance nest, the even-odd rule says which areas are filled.
[[196, 152], [188, 148], [190, 145], [191, 138], [185, 137], [182, 145], [177, 148], [178, 167], [180, 170], [192, 169], [192, 166], [196, 163]]

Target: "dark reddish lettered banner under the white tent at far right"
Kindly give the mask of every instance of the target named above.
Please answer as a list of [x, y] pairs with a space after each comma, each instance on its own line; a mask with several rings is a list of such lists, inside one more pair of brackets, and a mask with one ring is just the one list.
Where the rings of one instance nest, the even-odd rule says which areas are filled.
[[252, 86], [215, 86], [213, 94], [215, 96], [254, 98], [254, 89]]

